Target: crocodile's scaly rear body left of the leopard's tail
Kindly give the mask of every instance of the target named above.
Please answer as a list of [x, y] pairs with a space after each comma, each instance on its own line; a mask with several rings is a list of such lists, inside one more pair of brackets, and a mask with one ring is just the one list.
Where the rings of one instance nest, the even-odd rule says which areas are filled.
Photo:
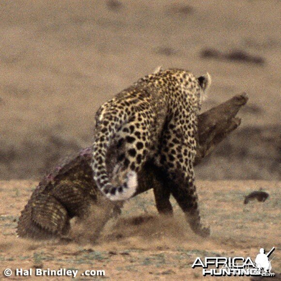
[[82, 150], [75, 157], [64, 159], [43, 178], [21, 212], [18, 236], [60, 237], [67, 234], [69, 219], [86, 214], [89, 204], [96, 202], [98, 196], [98, 190], [92, 188], [88, 153], [89, 149]]

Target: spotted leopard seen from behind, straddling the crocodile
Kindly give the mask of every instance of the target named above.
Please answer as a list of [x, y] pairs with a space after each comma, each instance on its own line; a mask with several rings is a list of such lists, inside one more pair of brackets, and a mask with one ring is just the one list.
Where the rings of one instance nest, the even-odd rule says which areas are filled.
[[[111, 201], [131, 198], [137, 174], [147, 161], [159, 167], [162, 188], [155, 190], [157, 209], [172, 213], [170, 195], [187, 215], [192, 230], [208, 236], [200, 222], [193, 161], [196, 155], [197, 116], [211, 77], [195, 77], [179, 68], [157, 68], [104, 103], [95, 114], [93, 176]], [[115, 142], [116, 166], [109, 174], [106, 157]]]

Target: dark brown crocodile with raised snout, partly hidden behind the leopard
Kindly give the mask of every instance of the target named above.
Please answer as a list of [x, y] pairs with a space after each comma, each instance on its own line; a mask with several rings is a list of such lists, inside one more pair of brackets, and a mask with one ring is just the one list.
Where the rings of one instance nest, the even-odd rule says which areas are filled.
[[[220, 141], [240, 125], [240, 119], [235, 116], [247, 101], [248, 97], [245, 94], [236, 95], [199, 115], [198, 146], [194, 165], [197, 165]], [[112, 172], [116, 163], [115, 145], [115, 143], [112, 144], [107, 155], [109, 172]], [[100, 227], [97, 232], [110, 217], [121, 212], [122, 203], [107, 200], [96, 187], [91, 161], [92, 149], [83, 149], [77, 155], [65, 159], [43, 178], [21, 212], [17, 225], [19, 237], [34, 239], [63, 237], [69, 231], [69, 220], [73, 217], [85, 218], [91, 204], [98, 205], [108, 212], [108, 216], [105, 216], [103, 221], [98, 221]], [[177, 181], [179, 185], [182, 184], [180, 178]], [[171, 189], [164, 171], [147, 162], [138, 173], [138, 183], [134, 196], [153, 187], [159, 213], [172, 213], [172, 205], [169, 201]], [[185, 212], [185, 205], [181, 207]], [[193, 231], [198, 233], [195, 226]], [[98, 233], [95, 236], [97, 235]]]

